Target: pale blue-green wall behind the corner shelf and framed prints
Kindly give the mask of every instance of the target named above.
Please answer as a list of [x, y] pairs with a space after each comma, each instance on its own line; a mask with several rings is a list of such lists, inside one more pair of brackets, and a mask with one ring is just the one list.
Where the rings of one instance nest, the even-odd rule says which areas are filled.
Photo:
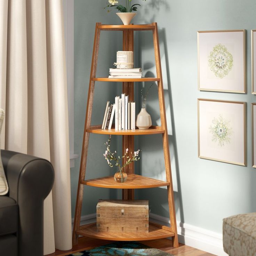
[[[120, 0], [121, 3], [122, 0]], [[256, 170], [251, 167], [251, 108], [256, 102], [251, 91], [250, 30], [256, 28], [256, 3], [253, 0], [183, 0], [142, 2], [134, 23], [157, 22], [169, 129], [171, 164], [175, 189], [177, 219], [218, 233], [222, 232], [224, 217], [256, 211]], [[75, 153], [81, 154], [87, 91], [93, 49], [95, 23], [120, 24], [115, 11], [106, 14], [104, 1], [74, 1], [74, 92], [75, 92]], [[197, 90], [197, 31], [247, 30], [247, 90], [248, 93], [214, 93]], [[122, 47], [121, 33], [102, 32], [98, 75], [107, 75], [115, 61], [115, 52]], [[144, 73], [154, 73], [152, 33], [136, 34], [137, 66]], [[149, 86], [147, 83], [146, 86]], [[142, 85], [136, 85], [141, 88]], [[93, 124], [102, 122], [107, 99], [121, 93], [121, 83], [96, 83]], [[139, 89], [137, 90], [139, 92]], [[197, 98], [212, 98], [247, 102], [247, 161], [248, 167], [203, 160], [197, 157]], [[138, 99], [138, 95], [137, 95]], [[139, 103], [139, 102], [138, 102]], [[139, 105], [139, 104], [137, 104]], [[147, 100], [147, 110], [153, 123], [159, 119], [157, 88], [154, 86]], [[112, 175], [102, 156], [103, 135], [91, 135], [88, 151], [87, 178]], [[161, 135], [136, 137], [142, 158], [136, 171], [145, 176], [164, 179], [165, 167]], [[113, 141], [120, 147], [121, 140]], [[80, 160], [71, 169], [72, 210], [74, 212]], [[82, 215], [95, 212], [99, 198], [115, 198], [113, 190], [86, 187]], [[164, 188], [140, 190], [140, 199], [150, 199], [151, 213], [168, 217], [167, 195]], [[88, 203], [89, 202], [89, 203]], [[85, 205], [85, 204], [84, 204]]]

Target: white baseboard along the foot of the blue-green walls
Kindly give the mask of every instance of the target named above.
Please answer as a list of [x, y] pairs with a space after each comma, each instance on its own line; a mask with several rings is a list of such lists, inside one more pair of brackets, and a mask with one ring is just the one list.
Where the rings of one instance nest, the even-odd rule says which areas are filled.
[[[150, 213], [150, 220], [164, 225], [170, 225], [170, 219]], [[74, 219], [72, 219], [72, 224]], [[96, 222], [96, 213], [81, 216], [80, 225]], [[206, 251], [217, 256], [228, 256], [223, 250], [222, 234], [177, 222], [178, 239], [184, 245]]]

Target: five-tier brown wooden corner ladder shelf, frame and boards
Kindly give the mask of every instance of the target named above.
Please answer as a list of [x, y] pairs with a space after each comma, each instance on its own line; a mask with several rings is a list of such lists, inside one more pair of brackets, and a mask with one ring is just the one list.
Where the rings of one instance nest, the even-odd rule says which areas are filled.
[[[157, 78], [97, 78], [96, 67], [98, 59], [99, 49], [99, 36], [101, 30], [115, 30], [123, 32], [123, 51], [133, 51], [134, 44], [134, 31], [139, 30], [151, 30], [153, 32], [154, 52], [155, 52], [155, 66], [157, 71]], [[134, 100], [134, 82], [146, 82], [156, 81], [158, 83], [158, 97], [160, 107], [161, 126], [151, 126], [147, 130], [121, 130], [115, 131], [114, 128], [110, 130], [101, 129], [101, 125], [91, 126], [91, 113], [93, 107], [94, 97], [94, 86], [95, 82], [122, 82], [123, 93], [129, 95], [129, 100]], [[113, 176], [100, 177], [96, 179], [85, 180], [86, 162], [87, 162], [87, 151], [89, 144], [90, 133], [95, 134], [111, 134], [111, 135], [122, 135], [122, 150], [125, 153], [126, 148], [130, 152], [134, 151], [134, 135], [151, 135], [151, 134], [162, 134], [163, 141], [163, 154], [165, 158], [165, 169], [166, 169], [166, 181], [159, 181], [157, 179], [143, 177], [134, 174], [134, 163], [125, 167], [125, 171], [128, 174], [127, 181], [125, 183], [117, 183], [114, 181]], [[83, 187], [94, 186], [104, 187], [108, 189], [122, 189], [123, 200], [134, 200], [134, 189], [146, 189], [152, 187], [167, 186], [168, 194], [168, 205], [169, 205], [169, 217], [171, 226], [162, 226], [157, 223], [149, 223], [149, 232], [97, 232], [96, 223], [80, 226], [82, 199], [83, 199]], [[166, 125], [166, 112], [165, 112], [165, 98], [163, 94], [163, 80], [161, 71], [160, 51], [159, 51], [159, 40], [158, 40], [158, 29], [157, 23], [147, 25], [103, 25], [96, 23], [93, 56], [91, 60], [91, 73], [90, 83], [87, 100], [87, 110], [85, 118], [85, 130], [83, 135], [82, 153], [81, 153], [81, 164], [77, 190], [77, 202], [75, 206], [75, 218], [74, 218], [74, 229], [73, 229], [73, 245], [78, 244], [78, 236], [83, 235], [85, 237], [113, 240], [113, 241], [142, 241], [142, 240], [153, 240], [160, 238], [171, 237], [173, 247], [178, 247], [178, 235], [176, 226], [175, 206], [174, 206], [174, 195], [173, 195], [173, 182], [171, 178], [171, 163], [169, 153], [169, 143]]]

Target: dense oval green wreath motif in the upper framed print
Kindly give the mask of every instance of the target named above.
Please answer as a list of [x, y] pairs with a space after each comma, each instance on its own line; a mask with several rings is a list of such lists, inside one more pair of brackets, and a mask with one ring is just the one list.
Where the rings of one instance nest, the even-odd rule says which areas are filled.
[[227, 48], [219, 43], [213, 47], [213, 51], [208, 56], [210, 70], [214, 72], [216, 77], [225, 77], [233, 67], [233, 56]]

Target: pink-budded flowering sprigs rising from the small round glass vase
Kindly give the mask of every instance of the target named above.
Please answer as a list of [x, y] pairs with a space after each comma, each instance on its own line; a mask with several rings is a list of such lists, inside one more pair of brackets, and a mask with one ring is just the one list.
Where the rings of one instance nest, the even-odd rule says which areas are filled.
[[[110, 166], [110, 167], [113, 167], [113, 166], [118, 166], [119, 167], [119, 171], [120, 171], [120, 174], [122, 173], [122, 170], [125, 166], [129, 165], [130, 163], [132, 162], [135, 162], [135, 161], [138, 161], [139, 160], [139, 151], [140, 150], [137, 150], [137, 151], [134, 151], [134, 153], [131, 153], [131, 157], [129, 157], [128, 155], [128, 149], [126, 149], [125, 151], [125, 154], [122, 156], [122, 157], [117, 157], [116, 156], [116, 153], [117, 151], [115, 151], [114, 153], [111, 152], [110, 150], [110, 142], [111, 142], [111, 136], [109, 137], [109, 139], [107, 140], [107, 142], [105, 143], [105, 145], [107, 146], [107, 150], [105, 151], [105, 153], [103, 154], [103, 156], [105, 157], [105, 159], [107, 160], [107, 164]], [[121, 166], [120, 164], [120, 160], [122, 160], [123, 158], [126, 159], [125, 163]], [[115, 162], [115, 163], [113, 163]]]

